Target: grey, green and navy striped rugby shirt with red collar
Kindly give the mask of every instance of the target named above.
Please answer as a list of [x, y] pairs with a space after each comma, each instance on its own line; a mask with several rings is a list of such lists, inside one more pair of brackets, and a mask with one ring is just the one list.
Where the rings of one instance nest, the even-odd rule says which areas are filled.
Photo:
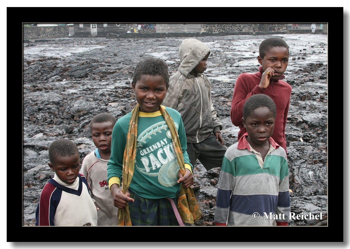
[[[225, 153], [216, 199], [216, 225], [287, 226], [290, 200], [286, 152], [270, 137], [270, 149], [262, 161], [247, 136], [245, 133]], [[260, 215], [257, 220], [252, 217], [255, 212]], [[265, 213], [272, 215], [264, 219]], [[273, 214], [281, 215], [269, 219]]]

